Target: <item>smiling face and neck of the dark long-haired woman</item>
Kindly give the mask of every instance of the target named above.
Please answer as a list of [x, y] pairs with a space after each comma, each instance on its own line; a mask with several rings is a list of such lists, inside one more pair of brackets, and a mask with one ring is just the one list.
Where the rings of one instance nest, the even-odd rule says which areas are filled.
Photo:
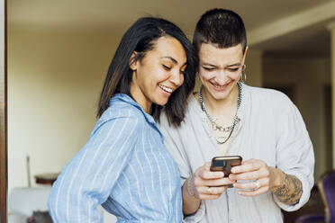
[[[134, 57], [136, 52], [132, 55]], [[134, 72], [131, 95], [149, 113], [152, 103], [168, 103], [168, 97], [183, 84], [185, 69], [183, 46], [174, 38], [161, 37], [141, 61], [131, 63]]]

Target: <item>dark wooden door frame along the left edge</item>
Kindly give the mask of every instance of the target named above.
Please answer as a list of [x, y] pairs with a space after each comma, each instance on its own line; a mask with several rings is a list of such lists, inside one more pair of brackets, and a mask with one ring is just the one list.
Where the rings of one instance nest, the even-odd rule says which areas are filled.
[[7, 222], [7, 4], [0, 0], [0, 223]]

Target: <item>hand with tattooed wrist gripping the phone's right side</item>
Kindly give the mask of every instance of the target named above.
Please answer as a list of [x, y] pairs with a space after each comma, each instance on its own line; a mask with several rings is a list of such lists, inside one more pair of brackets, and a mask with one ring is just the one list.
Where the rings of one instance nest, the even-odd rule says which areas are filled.
[[231, 181], [251, 180], [248, 183], [234, 183], [234, 188], [241, 189], [242, 196], [258, 196], [272, 191], [279, 201], [294, 205], [303, 193], [302, 183], [294, 175], [283, 173], [275, 167], [258, 159], [249, 159], [240, 166], [231, 168]]

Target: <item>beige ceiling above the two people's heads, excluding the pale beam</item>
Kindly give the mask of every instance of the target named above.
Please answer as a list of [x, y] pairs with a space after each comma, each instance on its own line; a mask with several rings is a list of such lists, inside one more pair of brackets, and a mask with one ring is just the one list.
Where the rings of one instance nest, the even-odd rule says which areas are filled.
[[[276, 22], [333, 0], [10, 0], [9, 29], [39, 29], [48, 31], [101, 31], [122, 33], [140, 16], [160, 16], [177, 23], [191, 37], [195, 22], [206, 10], [229, 8], [242, 16], [248, 31], [268, 22]], [[297, 52], [329, 55], [329, 33], [324, 26], [309, 27], [274, 40], [259, 43], [254, 48], [269, 53]], [[322, 43], [322, 44], [320, 44]], [[305, 46], [309, 46], [306, 49]], [[301, 51], [305, 50], [305, 51]], [[328, 50], [328, 51], [327, 51]]]

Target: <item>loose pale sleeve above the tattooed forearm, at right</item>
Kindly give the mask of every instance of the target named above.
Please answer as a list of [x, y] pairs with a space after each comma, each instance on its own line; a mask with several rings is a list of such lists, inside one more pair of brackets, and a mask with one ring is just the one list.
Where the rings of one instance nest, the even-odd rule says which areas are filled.
[[[288, 100], [288, 99], [287, 99]], [[276, 198], [277, 205], [286, 211], [300, 209], [310, 197], [314, 183], [314, 153], [312, 142], [298, 109], [294, 103], [288, 102], [281, 111], [282, 119], [278, 119], [278, 140], [276, 142], [276, 167], [285, 174], [297, 177], [303, 185], [303, 194], [295, 205], [287, 205]]]

